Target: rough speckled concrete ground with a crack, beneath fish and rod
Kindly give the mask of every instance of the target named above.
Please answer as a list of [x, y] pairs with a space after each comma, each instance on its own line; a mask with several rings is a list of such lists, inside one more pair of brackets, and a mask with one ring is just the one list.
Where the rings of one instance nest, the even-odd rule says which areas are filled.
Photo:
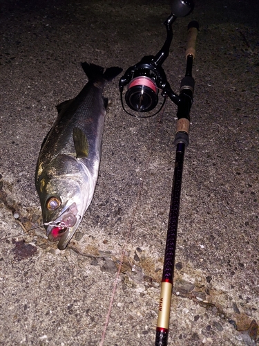
[[[163, 66], [175, 92], [189, 21], [200, 32], [169, 345], [258, 339], [258, 11], [257, 0], [197, 0], [173, 24]], [[86, 83], [80, 62], [125, 71], [159, 51], [170, 12], [159, 0], [1, 1], [0, 345], [154, 344], [176, 106], [136, 119], [119, 78], [106, 87], [99, 180], [65, 251], [36, 228], [34, 174], [55, 105]]]

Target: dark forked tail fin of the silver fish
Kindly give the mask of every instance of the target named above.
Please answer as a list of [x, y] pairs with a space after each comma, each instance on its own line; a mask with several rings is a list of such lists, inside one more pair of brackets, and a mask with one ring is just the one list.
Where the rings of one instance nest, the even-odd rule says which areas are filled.
[[95, 64], [88, 64], [87, 62], [82, 62], [81, 66], [86, 73], [89, 80], [93, 80], [96, 78], [104, 78], [105, 80], [113, 80], [119, 73], [122, 72], [120, 67], [109, 67], [104, 72], [104, 68], [102, 66], [98, 66]]

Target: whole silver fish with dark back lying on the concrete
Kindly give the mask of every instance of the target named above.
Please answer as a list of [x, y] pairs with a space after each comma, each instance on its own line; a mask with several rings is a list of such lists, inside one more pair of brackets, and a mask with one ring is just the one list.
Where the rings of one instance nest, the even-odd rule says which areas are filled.
[[108, 99], [103, 91], [122, 69], [81, 63], [88, 82], [79, 94], [57, 106], [58, 116], [44, 139], [35, 186], [50, 242], [64, 250], [93, 199], [102, 154]]

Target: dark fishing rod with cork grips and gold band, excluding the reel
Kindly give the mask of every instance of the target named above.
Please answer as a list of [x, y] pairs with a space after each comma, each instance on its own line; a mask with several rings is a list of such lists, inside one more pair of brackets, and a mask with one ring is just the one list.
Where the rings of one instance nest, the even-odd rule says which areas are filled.
[[173, 290], [173, 273], [175, 266], [175, 248], [178, 231], [184, 149], [189, 145], [190, 110], [193, 102], [194, 91], [192, 67], [193, 59], [195, 57], [195, 42], [197, 34], [198, 22], [191, 21], [188, 26], [188, 41], [186, 46], [186, 73], [180, 84], [180, 100], [178, 102], [178, 122], [175, 134], [175, 169], [173, 174], [171, 206], [166, 236], [166, 249], [164, 253], [164, 268], [162, 274], [155, 346], [166, 346], [169, 335], [169, 318], [171, 295]]

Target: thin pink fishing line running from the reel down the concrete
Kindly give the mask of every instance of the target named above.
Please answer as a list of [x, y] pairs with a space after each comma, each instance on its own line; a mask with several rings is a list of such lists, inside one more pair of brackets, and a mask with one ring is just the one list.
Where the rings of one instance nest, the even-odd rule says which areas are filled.
[[[160, 118], [158, 120], [157, 128], [156, 128], [156, 131], [155, 131], [155, 136], [153, 136], [153, 142], [151, 142], [151, 147], [149, 149], [149, 153], [150, 154], [149, 154], [148, 160], [146, 162], [146, 167], [149, 167], [149, 164], [150, 164], [150, 161], [151, 161], [151, 156], [153, 155], [153, 149], [154, 149], [155, 144], [156, 144], [157, 134], [158, 134], [158, 131], [160, 130], [160, 125], [161, 125], [161, 122], [162, 122], [162, 118], [164, 116], [164, 111], [165, 111], [165, 104], [163, 106], [163, 109], [162, 109], [162, 112], [161, 112], [161, 116], [160, 116]], [[139, 188], [139, 190], [137, 192], [137, 201], [136, 201], [135, 208], [133, 210], [133, 216], [131, 218], [130, 225], [128, 227], [128, 232], [126, 233], [126, 241], [124, 242], [124, 247], [122, 249], [122, 254], [120, 256], [119, 268], [117, 270], [117, 274], [116, 274], [116, 277], [115, 277], [115, 282], [113, 284], [113, 292], [111, 294], [111, 300], [110, 300], [110, 304], [109, 304], [108, 311], [107, 311], [107, 314], [106, 314], [106, 320], [105, 320], [105, 323], [104, 323], [104, 329], [102, 331], [102, 338], [101, 338], [101, 341], [99, 343], [99, 346], [103, 346], [104, 345], [104, 339], [105, 339], [106, 331], [107, 331], [107, 328], [108, 328], [108, 322], [109, 322], [109, 319], [110, 319], [110, 316], [111, 316], [111, 310], [112, 310], [112, 307], [113, 307], [113, 302], [115, 300], [115, 293], [116, 293], [117, 285], [118, 285], [118, 282], [119, 282], [119, 275], [122, 272], [122, 265], [124, 263], [124, 257], [125, 257], [125, 254], [126, 254], [126, 244], [128, 244], [128, 241], [129, 241], [129, 239], [131, 237], [133, 223], [135, 221], [135, 215], [136, 215], [139, 203], [140, 203], [140, 197], [141, 197], [141, 194], [142, 194], [144, 182], [146, 181], [147, 174], [148, 174], [148, 169], [144, 172], [144, 177], [142, 179], [142, 183], [141, 183], [140, 188]]]

